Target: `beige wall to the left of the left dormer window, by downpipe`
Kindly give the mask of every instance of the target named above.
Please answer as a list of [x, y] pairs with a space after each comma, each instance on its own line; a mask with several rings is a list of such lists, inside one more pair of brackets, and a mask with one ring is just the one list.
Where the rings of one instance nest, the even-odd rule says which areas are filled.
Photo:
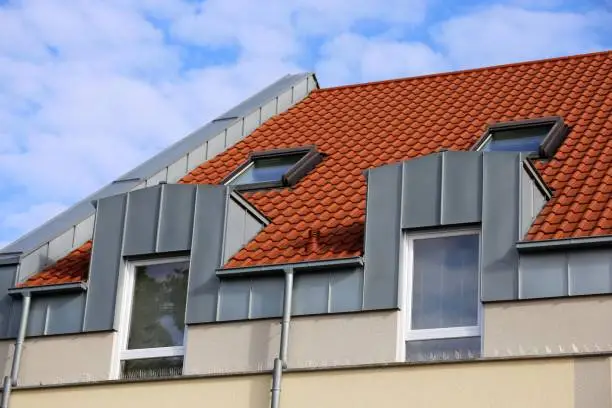
[[[110, 379], [115, 333], [27, 338], [19, 385], [47, 385]], [[14, 341], [0, 343], [5, 375], [10, 373]]]

